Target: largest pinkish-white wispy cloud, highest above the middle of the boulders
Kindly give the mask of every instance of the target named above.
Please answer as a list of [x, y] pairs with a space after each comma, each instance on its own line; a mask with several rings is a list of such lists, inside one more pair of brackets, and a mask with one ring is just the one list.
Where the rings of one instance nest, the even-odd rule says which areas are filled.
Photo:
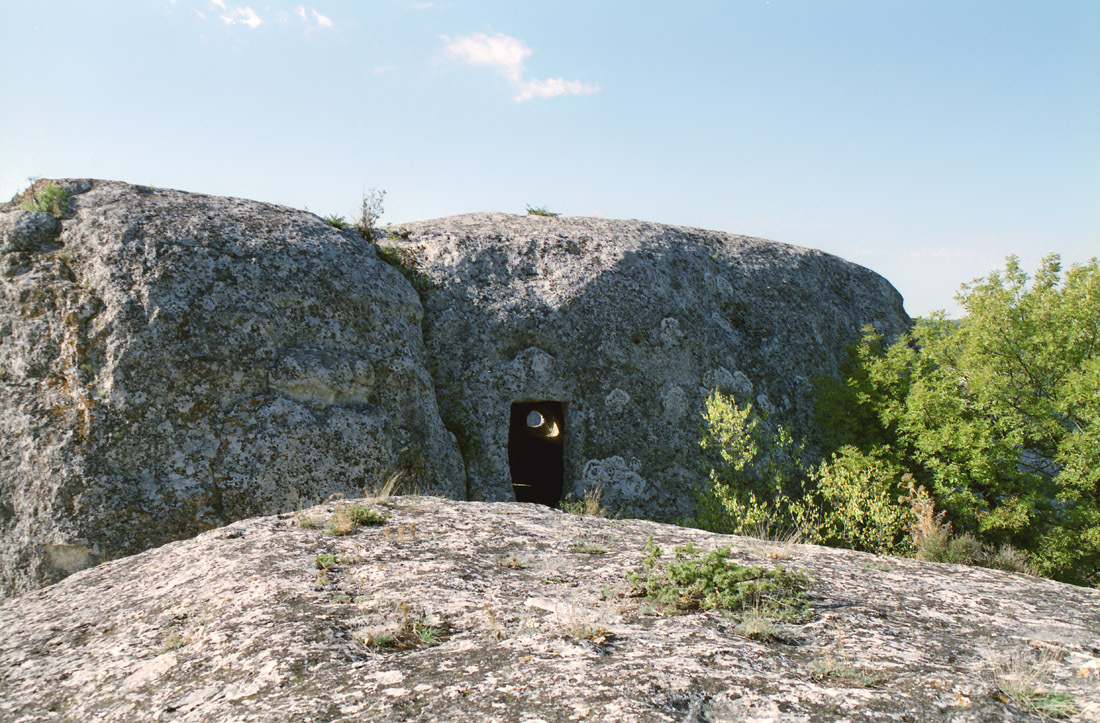
[[535, 52], [518, 37], [504, 33], [486, 35], [458, 35], [453, 40], [441, 36], [446, 43], [447, 54], [470, 65], [487, 65], [499, 70], [515, 87], [513, 100], [517, 103], [532, 98], [553, 98], [554, 96], [587, 96], [600, 91], [598, 85], [588, 85], [580, 80], [564, 78], [524, 79], [524, 63]]

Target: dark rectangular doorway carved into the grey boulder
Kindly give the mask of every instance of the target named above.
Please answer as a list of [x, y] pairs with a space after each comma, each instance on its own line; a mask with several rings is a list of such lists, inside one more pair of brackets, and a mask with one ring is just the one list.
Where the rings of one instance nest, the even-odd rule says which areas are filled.
[[508, 470], [516, 502], [548, 507], [561, 503], [562, 440], [565, 410], [561, 402], [516, 402], [508, 420]]

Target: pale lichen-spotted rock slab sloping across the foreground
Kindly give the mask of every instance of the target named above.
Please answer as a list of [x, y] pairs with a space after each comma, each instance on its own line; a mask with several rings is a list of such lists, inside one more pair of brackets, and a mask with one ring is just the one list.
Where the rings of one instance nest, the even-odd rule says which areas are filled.
[[[536, 505], [377, 508], [343, 537], [234, 523], [6, 602], [0, 719], [1035, 720], [997, 692], [1016, 673], [1100, 720], [1100, 591]], [[662, 614], [626, 577], [650, 536], [779, 558], [812, 614], [772, 642]]]

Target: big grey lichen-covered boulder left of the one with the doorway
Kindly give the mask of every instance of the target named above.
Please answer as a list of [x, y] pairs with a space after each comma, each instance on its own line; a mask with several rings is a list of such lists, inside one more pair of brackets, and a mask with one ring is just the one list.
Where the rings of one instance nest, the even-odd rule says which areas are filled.
[[395, 470], [462, 496], [408, 283], [252, 201], [63, 182], [0, 210], [0, 595]]

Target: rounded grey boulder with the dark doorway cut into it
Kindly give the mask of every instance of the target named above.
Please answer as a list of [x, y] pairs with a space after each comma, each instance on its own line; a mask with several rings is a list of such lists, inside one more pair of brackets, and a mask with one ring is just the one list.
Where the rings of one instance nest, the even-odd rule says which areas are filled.
[[513, 405], [552, 402], [564, 418], [544, 464], [563, 469], [562, 493], [602, 486], [628, 515], [688, 515], [708, 391], [776, 412], [812, 441], [811, 379], [835, 373], [865, 325], [892, 335], [910, 322], [877, 274], [759, 239], [502, 213], [400, 235], [384, 243], [425, 292], [425, 340], [470, 499], [514, 499]]

